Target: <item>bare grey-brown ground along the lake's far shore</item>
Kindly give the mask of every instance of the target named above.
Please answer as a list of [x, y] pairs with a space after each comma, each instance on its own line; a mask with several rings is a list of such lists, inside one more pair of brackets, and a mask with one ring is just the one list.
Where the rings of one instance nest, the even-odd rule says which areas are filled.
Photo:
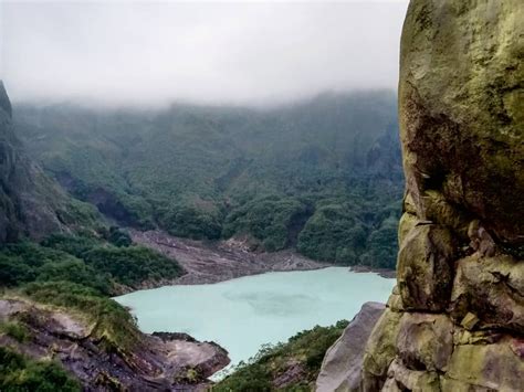
[[[155, 248], [178, 261], [187, 272], [166, 285], [199, 285], [268, 272], [311, 271], [331, 266], [315, 262], [290, 250], [280, 252], [252, 252], [241, 241], [203, 242], [171, 236], [161, 231], [130, 230], [133, 241]], [[145, 284], [144, 288], [157, 287]]]

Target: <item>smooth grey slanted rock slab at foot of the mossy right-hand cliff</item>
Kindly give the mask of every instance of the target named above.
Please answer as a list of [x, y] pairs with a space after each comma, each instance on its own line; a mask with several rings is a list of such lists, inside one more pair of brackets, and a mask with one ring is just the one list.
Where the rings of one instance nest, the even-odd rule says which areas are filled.
[[386, 307], [366, 303], [340, 338], [327, 350], [316, 380], [317, 392], [352, 391], [360, 384], [364, 348]]

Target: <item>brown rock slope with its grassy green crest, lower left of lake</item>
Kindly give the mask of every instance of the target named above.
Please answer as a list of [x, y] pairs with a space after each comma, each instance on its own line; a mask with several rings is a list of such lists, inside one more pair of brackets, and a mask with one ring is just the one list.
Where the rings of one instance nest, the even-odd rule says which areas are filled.
[[[22, 297], [0, 297], [0, 353], [54, 363], [77, 380], [74, 391], [202, 390], [206, 378], [229, 363], [218, 345], [185, 333], [142, 333], [117, 304], [86, 296], [78, 286], [70, 288], [57, 293], [52, 284], [28, 286]], [[71, 304], [60, 306], [59, 298], [67, 297]], [[73, 301], [92, 308], [81, 311]], [[33, 389], [28, 382], [34, 377], [31, 370], [20, 368], [15, 379], [2, 363], [2, 391], [36, 390], [39, 385]], [[52, 383], [52, 374], [43, 380]]]

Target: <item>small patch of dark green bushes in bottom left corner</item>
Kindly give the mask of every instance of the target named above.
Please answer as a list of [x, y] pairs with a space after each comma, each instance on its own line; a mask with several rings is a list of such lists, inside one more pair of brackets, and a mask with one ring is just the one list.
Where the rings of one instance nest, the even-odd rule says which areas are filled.
[[60, 364], [36, 361], [0, 347], [0, 390], [4, 392], [76, 392], [80, 383]]

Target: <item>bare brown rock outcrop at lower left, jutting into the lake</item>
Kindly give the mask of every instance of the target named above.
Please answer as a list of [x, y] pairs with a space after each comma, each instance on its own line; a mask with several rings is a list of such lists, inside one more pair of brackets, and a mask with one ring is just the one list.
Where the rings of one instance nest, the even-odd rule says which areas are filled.
[[111, 349], [85, 317], [22, 298], [0, 299], [6, 324], [24, 333], [0, 331], [1, 347], [60, 361], [84, 391], [202, 391], [207, 378], [230, 362], [220, 346], [185, 333], [136, 332], [136, 348]]

